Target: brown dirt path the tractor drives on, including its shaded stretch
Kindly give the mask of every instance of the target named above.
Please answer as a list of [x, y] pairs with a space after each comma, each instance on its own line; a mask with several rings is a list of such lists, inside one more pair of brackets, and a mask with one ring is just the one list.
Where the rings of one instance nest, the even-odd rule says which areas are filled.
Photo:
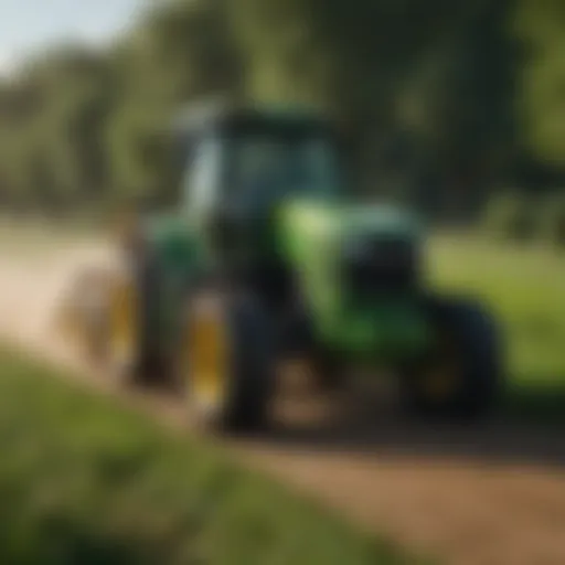
[[[106, 392], [50, 327], [53, 307], [82, 263], [104, 257], [74, 245], [39, 256], [0, 250], [0, 335], [67, 363]], [[131, 398], [129, 398], [131, 399]], [[177, 428], [179, 401], [138, 394]], [[318, 497], [365, 527], [458, 565], [565, 563], [565, 440], [510, 423], [414, 428], [386, 413], [367, 420], [281, 425], [269, 437], [225, 446]]]

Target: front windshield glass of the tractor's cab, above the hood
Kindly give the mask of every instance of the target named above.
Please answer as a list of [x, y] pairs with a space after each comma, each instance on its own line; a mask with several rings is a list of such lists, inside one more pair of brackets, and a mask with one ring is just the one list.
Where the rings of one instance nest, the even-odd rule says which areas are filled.
[[237, 199], [258, 203], [300, 194], [330, 196], [337, 191], [335, 149], [328, 139], [256, 135], [232, 143], [230, 184]]

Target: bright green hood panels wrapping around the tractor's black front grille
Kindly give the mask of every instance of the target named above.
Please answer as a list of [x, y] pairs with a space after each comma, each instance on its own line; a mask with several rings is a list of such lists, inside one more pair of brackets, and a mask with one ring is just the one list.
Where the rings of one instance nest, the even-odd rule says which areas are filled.
[[414, 297], [359, 303], [345, 288], [341, 260], [350, 238], [420, 238], [422, 226], [392, 206], [292, 202], [281, 211], [279, 241], [297, 271], [321, 338], [355, 354], [417, 349], [427, 329]]

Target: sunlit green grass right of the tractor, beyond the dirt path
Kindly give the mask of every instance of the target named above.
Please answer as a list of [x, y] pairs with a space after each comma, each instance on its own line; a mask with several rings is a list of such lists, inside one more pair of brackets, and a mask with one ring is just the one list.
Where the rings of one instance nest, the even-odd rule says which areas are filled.
[[483, 300], [503, 330], [507, 409], [565, 422], [565, 253], [488, 239], [431, 239], [429, 276]]

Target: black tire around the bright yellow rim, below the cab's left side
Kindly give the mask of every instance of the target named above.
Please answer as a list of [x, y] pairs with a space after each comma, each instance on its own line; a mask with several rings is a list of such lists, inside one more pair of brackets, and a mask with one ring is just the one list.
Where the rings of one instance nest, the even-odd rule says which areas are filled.
[[267, 310], [253, 296], [195, 292], [189, 300], [186, 312], [189, 339], [194, 307], [203, 297], [210, 296], [221, 305], [230, 340], [226, 388], [221, 405], [211, 411], [202, 409], [195, 397], [194, 369], [189, 356], [189, 374], [180, 379], [185, 382], [192, 414], [199, 427], [206, 430], [228, 434], [259, 431], [268, 423], [275, 388], [275, 339]]

